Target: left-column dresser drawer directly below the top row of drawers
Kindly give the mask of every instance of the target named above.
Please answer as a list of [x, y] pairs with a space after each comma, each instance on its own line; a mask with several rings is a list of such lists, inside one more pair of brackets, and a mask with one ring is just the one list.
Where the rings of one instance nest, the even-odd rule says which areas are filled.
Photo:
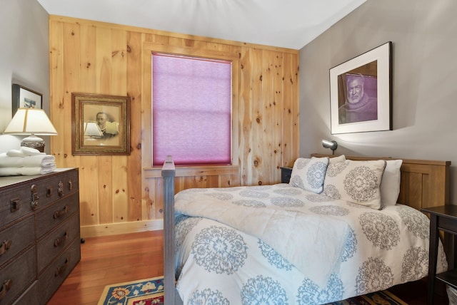
[[30, 215], [0, 231], [0, 266], [35, 243], [35, 218]]

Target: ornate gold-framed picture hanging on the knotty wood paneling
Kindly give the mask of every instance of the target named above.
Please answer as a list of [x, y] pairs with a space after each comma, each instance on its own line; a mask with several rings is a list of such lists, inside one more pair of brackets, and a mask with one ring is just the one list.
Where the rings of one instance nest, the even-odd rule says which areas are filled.
[[73, 155], [130, 155], [130, 97], [71, 93]]

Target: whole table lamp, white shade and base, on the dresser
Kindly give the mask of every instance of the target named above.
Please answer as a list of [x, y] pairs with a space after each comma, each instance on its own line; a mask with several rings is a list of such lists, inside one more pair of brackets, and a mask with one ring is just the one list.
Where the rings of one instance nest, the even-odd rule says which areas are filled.
[[22, 139], [21, 146], [35, 148], [41, 153], [44, 153], [44, 140], [36, 135], [57, 135], [48, 115], [38, 108], [19, 108], [4, 133], [29, 135]]

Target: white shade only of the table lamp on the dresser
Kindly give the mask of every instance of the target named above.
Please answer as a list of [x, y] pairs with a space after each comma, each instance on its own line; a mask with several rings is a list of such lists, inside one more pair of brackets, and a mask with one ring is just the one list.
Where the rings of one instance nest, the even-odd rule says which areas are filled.
[[4, 133], [13, 135], [57, 135], [43, 109], [19, 108]]

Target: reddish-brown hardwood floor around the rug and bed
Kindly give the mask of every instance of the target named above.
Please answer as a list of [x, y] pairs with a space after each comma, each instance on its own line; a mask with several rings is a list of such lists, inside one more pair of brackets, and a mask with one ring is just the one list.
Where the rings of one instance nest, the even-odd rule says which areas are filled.
[[[81, 244], [81, 262], [48, 305], [94, 305], [106, 285], [163, 275], [163, 244], [163, 231], [87, 238]], [[389, 291], [410, 305], [426, 304], [426, 281], [394, 286]], [[448, 304], [446, 292], [436, 294], [435, 304]]]

